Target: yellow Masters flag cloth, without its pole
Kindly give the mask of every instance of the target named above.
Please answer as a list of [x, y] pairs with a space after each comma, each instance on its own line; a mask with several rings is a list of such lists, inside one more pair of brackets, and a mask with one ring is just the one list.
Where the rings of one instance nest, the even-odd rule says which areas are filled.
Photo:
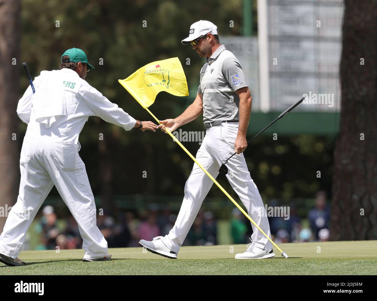
[[175, 96], [189, 95], [186, 76], [178, 58], [152, 62], [118, 82], [144, 109], [155, 102], [161, 91]]

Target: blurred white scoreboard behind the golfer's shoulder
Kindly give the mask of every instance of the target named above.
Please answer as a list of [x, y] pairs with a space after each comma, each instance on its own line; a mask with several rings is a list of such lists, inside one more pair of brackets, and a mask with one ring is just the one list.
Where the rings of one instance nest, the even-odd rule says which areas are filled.
[[[253, 109], [340, 110], [342, 0], [258, 0], [258, 36], [220, 36], [241, 62]], [[321, 102], [324, 98], [326, 102]]]

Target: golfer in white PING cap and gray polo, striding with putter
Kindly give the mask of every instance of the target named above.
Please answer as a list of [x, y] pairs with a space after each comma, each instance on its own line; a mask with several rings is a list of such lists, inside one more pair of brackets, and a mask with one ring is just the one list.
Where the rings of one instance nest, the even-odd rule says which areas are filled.
[[[251, 96], [238, 59], [220, 45], [217, 27], [209, 21], [191, 25], [189, 36], [182, 44], [191, 44], [193, 50], [207, 62], [200, 71], [200, 84], [194, 102], [177, 118], [160, 121], [162, 131], [170, 132], [191, 122], [203, 113], [207, 129], [196, 160], [216, 178], [225, 158], [234, 151], [227, 163], [227, 179], [244, 204], [248, 214], [271, 238], [267, 214], [258, 189], [250, 177], [242, 152], [247, 147], [246, 131], [251, 113]], [[177, 220], [169, 234], [155, 237], [153, 241], [140, 240], [149, 251], [177, 258], [202, 202], [213, 182], [197, 164], [185, 185], [185, 196]], [[246, 252], [236, 254], [236, 259], [270, 258], [275, 254], [271, 242], [253, 224], [251, 243]]]

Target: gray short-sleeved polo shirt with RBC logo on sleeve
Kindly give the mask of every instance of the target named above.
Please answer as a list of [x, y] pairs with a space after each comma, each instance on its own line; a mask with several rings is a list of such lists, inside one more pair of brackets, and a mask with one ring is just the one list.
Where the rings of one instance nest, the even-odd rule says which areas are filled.
[[239, 120], [239, 97], [235, 91], [243, 87], [248, 84], [238, 59], [221, 45], [200, 71], [198, 94], [203, 98], [204, 123]]

